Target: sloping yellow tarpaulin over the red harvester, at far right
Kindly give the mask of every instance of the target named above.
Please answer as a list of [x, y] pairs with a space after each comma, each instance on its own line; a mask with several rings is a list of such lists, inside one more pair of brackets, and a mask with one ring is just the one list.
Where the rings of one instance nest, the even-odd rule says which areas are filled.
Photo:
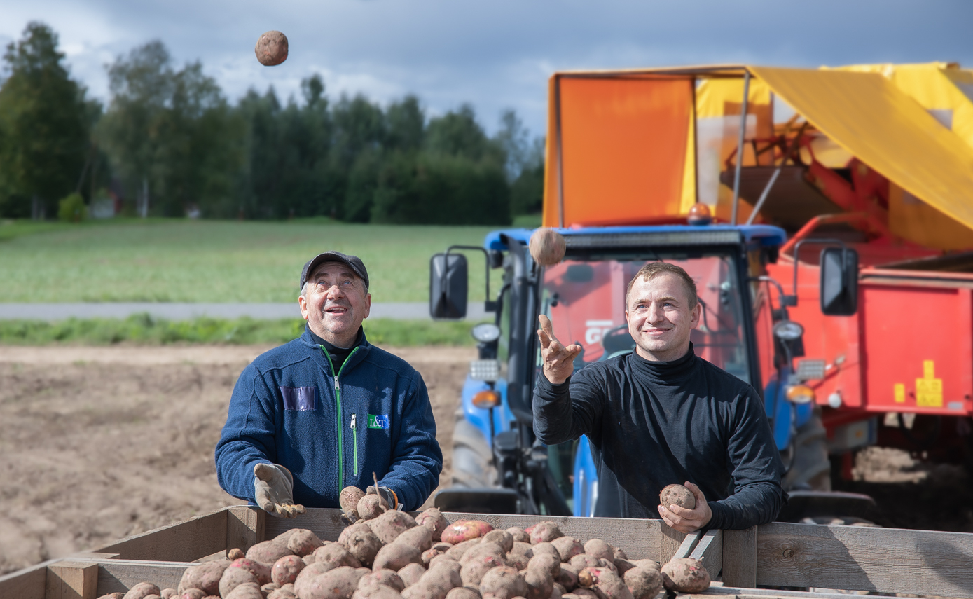
[[[973, 148], [882, 75], [749, 69], [822, 133], [892, 184], [973, 229]], [[969, 246], [973, 230], [962, 245]]]

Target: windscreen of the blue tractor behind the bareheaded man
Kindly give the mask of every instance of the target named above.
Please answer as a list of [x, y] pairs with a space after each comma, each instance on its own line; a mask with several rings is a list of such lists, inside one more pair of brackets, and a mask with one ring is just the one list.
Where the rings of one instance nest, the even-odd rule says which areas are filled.
[[[733, 259], [723, 254], [666, 255], [602, 260], [565, 260], [545, 269], [541, 310], [564, 343], [584, 349], [575, 368], [630, 353], [634, 341], [625, 318], [625, 291], [650, 260], [678, 264], [696, 281], [703, 316], [692, 333], [696, 354], [749, 381], [739, 281]], [[538, 352], [538, 367], [539, 367]]]

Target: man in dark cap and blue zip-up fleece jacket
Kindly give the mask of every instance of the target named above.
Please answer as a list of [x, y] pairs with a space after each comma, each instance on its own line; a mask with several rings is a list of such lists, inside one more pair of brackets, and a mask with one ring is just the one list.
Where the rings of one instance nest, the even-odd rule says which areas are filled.
[[338, 508], [342, 488], [373, 484], [389, 506], [417, 509], [439, 484], [443, 454], [425, 383], [365, 339], [365, 264], [325, 252], [301, 273], [304, 335], [240, 374], [216, 445], [220, 485], [285, 517]]

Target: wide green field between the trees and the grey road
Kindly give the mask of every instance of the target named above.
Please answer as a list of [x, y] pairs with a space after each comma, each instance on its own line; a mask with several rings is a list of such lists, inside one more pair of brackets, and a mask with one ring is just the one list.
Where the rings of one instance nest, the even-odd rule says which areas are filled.
[[[149, 219], [0, 223], [0, 302], [296, 301], [301, 267], [333, 249], [365, 262], [373, 301], [426, 301], [429, 257], [487, 227]], [[484, 298], [469, 254], [470, 300]], [[499, 270], [492, 273], [499, 289]]]

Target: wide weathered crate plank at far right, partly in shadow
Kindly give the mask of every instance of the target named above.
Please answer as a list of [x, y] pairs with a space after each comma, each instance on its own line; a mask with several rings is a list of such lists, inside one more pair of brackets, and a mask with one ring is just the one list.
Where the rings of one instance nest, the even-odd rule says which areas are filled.
[[973, 534], [775, 522], [757, 584], [973, 597]]

